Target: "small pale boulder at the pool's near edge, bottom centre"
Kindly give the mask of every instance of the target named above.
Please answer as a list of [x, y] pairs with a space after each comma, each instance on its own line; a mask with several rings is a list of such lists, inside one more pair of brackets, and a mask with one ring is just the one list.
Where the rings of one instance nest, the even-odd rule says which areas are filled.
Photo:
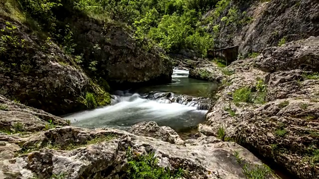
[[153, 137], [164, 142], [169, 142], [176, 145], [184, 145], [185, 142], [179, 135], [170, 127], [160, 127], [156, 122], [141, 122], [138, 123], [128, 131], [135, 135]]

